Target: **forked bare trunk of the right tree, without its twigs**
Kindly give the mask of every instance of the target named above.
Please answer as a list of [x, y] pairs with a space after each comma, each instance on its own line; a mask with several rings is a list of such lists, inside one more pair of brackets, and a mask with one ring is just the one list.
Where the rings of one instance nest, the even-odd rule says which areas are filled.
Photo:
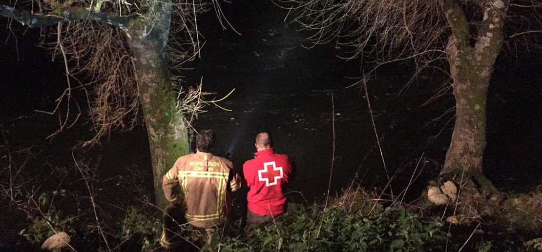
[[456, 121], [442, 174], [466, 172], [483, 177], [482, 158], [486, 147], [487, 92], [494, 63], [504, 41], [504, 17], [508, 1], [481, 2], [484, 11], [476, 43], [469, 45], [469, 25], [455, 0], [442, 0], [452, 30], [447, 57], [454, 80]]

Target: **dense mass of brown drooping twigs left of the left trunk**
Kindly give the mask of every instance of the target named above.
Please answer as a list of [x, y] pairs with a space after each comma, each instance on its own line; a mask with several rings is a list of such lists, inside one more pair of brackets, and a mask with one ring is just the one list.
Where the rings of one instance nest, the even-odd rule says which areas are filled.
[[[47, 40], [51, 35], [56, 35], [55, 41]], [[51, 50], [53, 60], [61, 57], [65, 62], [68, 83], [55, 109], [47, 112], [63, 113], [59, 129], [49, 137], [70, 128], [86, 114], [71, 98], [76, 91], [85, 94], [89, 120], [96, 132], [86, 144], [99, 143], [111, 130], [130, 130], [140, 122], [139, 91], [123, 31], [83, 21], [60, 23], [56, 30], [43, 30], [42, 36], [42, 46]], [[75, 112], [70, 110], [74, 104], [78, 109]]]

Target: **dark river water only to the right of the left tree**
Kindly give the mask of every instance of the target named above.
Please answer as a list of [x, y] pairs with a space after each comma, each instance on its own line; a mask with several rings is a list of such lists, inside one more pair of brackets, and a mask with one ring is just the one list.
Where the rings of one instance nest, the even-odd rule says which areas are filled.
[[[311, 34], [291, 22], [289, 11], [264, 3], [222, 5], [239, 34], [227, 24], [216, 30], [212, 11], [201, 19], [207, 43], [186, 79], [202, 80], [216, 97], [235, 91], [220, 104], [231, 111], [210, 105], [196, 129], [217, 131], [216, 151], [233, 154], [238, 167], [253, 156], [255, 135], [272, 133], [276, 150], [299, 165], [293, 189], [308, 198], [327, 194], [328, 185], [333, 194], [354, 179], [370, 188], [391, 177], [395, 194], [417, 178], [410, 195], [418, 196], [438, 174], [451, 137], [451, 93], [425, 105], [442, 76], [422, 76], [404, 88], [408, 66], [382, 68], [367, 80], [367, 99], [360, 86], [345, 88], [366, 67], [337, 57], [349, 48], [309, 48]], [[542, 123], [542, 77], [528, 70], [540, 61], [508, 56], [500, 58], [489, 94], [485, 170], [505, 189], [526, 190], [542, 180], [542, 131], [536, 129]]]

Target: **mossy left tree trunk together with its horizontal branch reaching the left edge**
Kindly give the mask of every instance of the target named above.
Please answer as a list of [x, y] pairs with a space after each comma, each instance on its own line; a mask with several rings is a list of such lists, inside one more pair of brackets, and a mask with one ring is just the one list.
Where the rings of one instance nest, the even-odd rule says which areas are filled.
[[144, 18], [132, 19], [70, 6], [62, 7], [51, 14], [53, 15], [34, 15], [29, 11], [19, 11], [0, 4], [0, 16], [14, 18], [29, 27], [49, 26], [64, 21], [93, 20], [117, 26], [126, 32], [149, 137], [154, 197], [157, 206], [164, 209], [169, 203], [162, 191], [162, 176], [179, 156], [190, 151], [188, 125], [177, 109], [177, 95], [171, 84], [166, 57], [172, 15], [171, 1], [157, 1]]

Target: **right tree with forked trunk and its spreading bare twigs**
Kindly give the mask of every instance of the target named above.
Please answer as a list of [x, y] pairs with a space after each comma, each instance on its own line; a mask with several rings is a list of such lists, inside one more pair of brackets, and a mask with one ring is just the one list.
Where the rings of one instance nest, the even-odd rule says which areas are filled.
[[[414, 77], [428, 69], [449, 76], [443, 90], [455, 96], [456, 121], [442, 173], [481, 173], [494, 63], [505, 44], [514, 53], [540, 47], [539, 1], [284, 2], [293, 3], [296, 21], [315, 32], [314, 43], [347, 45], [352, 48], [347, 58], [373, 63], [373, 71], [380, 65], [408, 62], [416, 67]], [[365, 85], [365, 80], [360, 83]]]

